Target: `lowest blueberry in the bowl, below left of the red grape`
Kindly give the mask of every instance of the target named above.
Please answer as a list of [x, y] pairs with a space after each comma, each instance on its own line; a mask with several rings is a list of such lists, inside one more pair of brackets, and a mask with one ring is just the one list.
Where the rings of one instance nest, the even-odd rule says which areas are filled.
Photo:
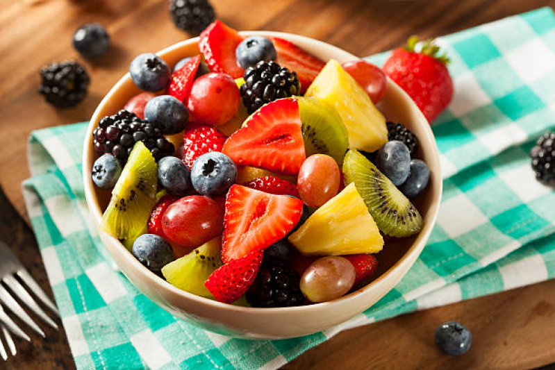
[[131, 252], [139, 262], [155, 273], [174, 260], [172, 246], [163, 237], [154, 234], [143, 234], [135, 239]]

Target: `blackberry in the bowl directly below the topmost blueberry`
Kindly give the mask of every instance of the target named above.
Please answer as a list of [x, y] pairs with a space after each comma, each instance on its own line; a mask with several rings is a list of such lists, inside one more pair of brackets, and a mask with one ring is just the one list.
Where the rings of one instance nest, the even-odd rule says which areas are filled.
[[241, 85], [241, 96], [249, 113], [270, 101], [297, 95], [301, 90], [297, 74], [272, 60], [260, 61], [256, 66], [247, 68], [243, 78], [245, 83]]

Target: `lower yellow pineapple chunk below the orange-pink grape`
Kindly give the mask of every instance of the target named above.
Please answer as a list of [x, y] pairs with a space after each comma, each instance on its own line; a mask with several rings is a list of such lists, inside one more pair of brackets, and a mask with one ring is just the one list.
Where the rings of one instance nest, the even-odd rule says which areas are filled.
[[383, 238], [354, 184], [318, 208], [289, 241], [304, 255], [378, 253]]

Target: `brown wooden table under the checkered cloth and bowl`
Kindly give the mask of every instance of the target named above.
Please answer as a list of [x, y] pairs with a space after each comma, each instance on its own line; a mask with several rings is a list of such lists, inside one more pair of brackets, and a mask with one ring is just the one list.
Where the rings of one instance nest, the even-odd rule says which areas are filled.
[[[219, 18], [240, 30], [299, 33], [367, 56], [404, 44], [409, 35], [431, 37], [553, 6], [547, 0], [212, 0]], [[28, 176], [26, 140], [31, 131], [85, 121], [133, 56], [188, 37], [174, 28], [167, 0], [0, 0], [0, 235], [49, 290], [26, 218], [20, 184]], [[108, 28], [113, 48], [100, 62], [79, 58], [74, 30], [85, 22]], [[56, 110], [36, 92], [38, 70], [52, 60], [76, 58], [92, 76], [87, 99]], [[1, 192], [0, 192], [1, 193]], [[8, 203], [8, 200], [13, 205]], [[17, 212], [16, 212], [17, 211]], [[555, 362], [555, 280], [408, 314], [349, 330], [308, 351], [286, 369], [523, 369]], [[472, 350], [460, 358], [438, 352], [433, 331], [456, 319], [473, 333]], [[33, 344], [8, 367], [67, 369], [74, 362], [63, 331]]]

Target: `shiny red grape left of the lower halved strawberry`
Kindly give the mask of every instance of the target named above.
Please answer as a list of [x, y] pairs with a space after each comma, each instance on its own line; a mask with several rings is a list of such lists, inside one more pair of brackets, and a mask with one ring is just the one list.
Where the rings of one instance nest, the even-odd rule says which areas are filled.
[[207, 196], [185, 196], [169, 205], [162, 218], [170, 242], [197, 247], [214, 239], [223, 228], [222, 208]]

